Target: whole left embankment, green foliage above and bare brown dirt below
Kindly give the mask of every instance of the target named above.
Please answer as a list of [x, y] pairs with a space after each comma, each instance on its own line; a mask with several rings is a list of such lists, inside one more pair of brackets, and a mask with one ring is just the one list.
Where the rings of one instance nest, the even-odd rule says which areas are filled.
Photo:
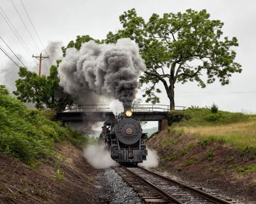
[[29, 110], [0, 85], [0, 203], [92, 203], [95, 169], [80, 148], [88, 136]]

